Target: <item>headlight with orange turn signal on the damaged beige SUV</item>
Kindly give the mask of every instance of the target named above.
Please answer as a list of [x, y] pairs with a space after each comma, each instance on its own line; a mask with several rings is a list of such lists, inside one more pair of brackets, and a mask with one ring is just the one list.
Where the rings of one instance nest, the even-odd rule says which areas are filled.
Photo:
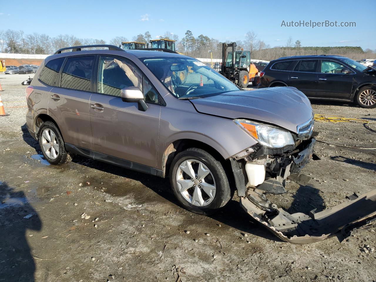
[[264, 146], [282, 148], [287, 145], [295, 144], [293, 135], [287, 130], [263, 123], [256, 123], [255, 121], [243, 119], [237, 119], [234, 121], [241, 129]]

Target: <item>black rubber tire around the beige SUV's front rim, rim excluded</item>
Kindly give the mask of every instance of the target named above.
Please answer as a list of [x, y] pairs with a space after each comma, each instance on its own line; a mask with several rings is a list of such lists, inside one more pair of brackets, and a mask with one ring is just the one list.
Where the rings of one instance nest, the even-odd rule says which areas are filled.
[[[206, 206], [192, 205], [182, 196], [177, 186], [176, 174], [179, 165], [188, 159], [194, 159], [202, 162], [207, 168], [209, 168], [211, 174], [213, 175], [216, 186], [215, 195], [212, 202]], [[179, 201], [180, 205], [188, 211], [196, 214], [212, 214], [219, 208], [226, 205], [231, 199], [229, 180], [227, 179], [226, 172], [224, 171], [221, 162], [202, 149], [190, 148], [178, 153], [175, 156], [170, 166], [170, 183], [175, 197]]]

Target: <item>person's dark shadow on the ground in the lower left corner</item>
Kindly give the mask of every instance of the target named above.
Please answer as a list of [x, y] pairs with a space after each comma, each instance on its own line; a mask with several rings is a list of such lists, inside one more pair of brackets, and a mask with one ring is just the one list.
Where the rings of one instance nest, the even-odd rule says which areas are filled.
[[41, 228], [38, 213], [23, 191], [14, 191], [7, 183], [0, 182], [0, 280], [35, 281], [35, 262], [26, 231]]

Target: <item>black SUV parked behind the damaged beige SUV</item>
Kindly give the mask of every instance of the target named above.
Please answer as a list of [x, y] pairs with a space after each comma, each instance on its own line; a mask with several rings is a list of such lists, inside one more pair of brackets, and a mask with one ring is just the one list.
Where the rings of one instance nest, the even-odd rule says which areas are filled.
[[309, 99], [376, 107], [376, 69], [343, 56], [291, 56], [271, 61], [260, 73], [258, 88], [274, 86], [296, 87]]

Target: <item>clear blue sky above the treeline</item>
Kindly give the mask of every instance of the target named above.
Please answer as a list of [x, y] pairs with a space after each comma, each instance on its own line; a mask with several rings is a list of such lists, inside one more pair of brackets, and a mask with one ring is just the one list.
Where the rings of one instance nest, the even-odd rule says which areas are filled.
[[[376, 49], [372, 20], [375, 0], [362, 1], [360, 6], [353, 0], [1, 2], [0, 30], [24, 30], [50, 36], [73, 34], [106, 41], [115, 36], [131, 39], [147, 30], [153, 38], [167, 30], [182, 38], [187, 29], [194, 36], [203, 34], [220, 41], [237, 41], [244, 40], [244, 34], [253, 30], [271, 47], [285, 45], [292, 36], [302, 46], [349, 45]], [[281, 27], [282, 20], [354, 21], [356, 27]]]

